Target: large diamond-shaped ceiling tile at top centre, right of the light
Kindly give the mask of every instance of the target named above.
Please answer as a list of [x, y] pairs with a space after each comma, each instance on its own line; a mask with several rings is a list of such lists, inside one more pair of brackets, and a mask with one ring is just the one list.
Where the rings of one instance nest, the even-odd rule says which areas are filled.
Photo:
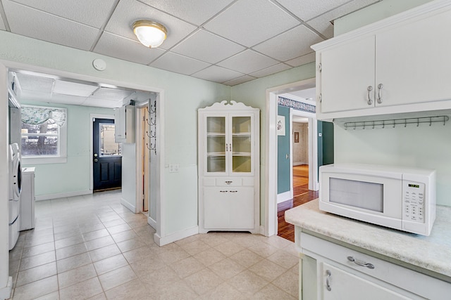
[[268, 0], [239, 0], [204, 28], [250, 47], [296, 25], [298, 20]]

